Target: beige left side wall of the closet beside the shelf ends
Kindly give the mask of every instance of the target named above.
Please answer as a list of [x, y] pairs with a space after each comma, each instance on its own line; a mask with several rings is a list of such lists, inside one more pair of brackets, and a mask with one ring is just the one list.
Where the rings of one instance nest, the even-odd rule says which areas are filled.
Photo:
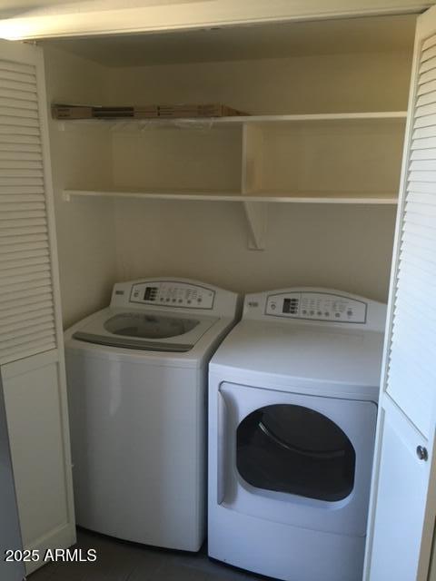
[[[45, 47], [48, 103], [100, 103], [104, 67]], [[93, 128], [72, 130], [50, 119], [50, 146], [64, 326], [100, 309], [117, 278], [111, 202], [62, 199], [65, 187], [93, 187], [112, 179], [107, 136]]]

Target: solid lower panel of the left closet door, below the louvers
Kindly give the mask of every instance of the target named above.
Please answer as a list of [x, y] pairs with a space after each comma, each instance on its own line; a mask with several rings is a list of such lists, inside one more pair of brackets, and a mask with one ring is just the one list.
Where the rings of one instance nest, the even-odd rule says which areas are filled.
[[46, 543], [47, 531], [59, 531], [70, 520], [59, 364], [48, 356], [32, 359], [34, 369], [5, 366], [3, 380], [25, 547]]

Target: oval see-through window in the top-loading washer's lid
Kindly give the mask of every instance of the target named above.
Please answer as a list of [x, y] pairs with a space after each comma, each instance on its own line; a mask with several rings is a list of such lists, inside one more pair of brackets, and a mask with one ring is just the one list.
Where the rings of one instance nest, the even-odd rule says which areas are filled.
[[183, 317], [165, 317], [151, 313], [124, 312], [111, 317], [104, 329], [114, 335], [139, 337], [142, 339], [167, 339], [184, 335], [193, 330], [199, 321]]

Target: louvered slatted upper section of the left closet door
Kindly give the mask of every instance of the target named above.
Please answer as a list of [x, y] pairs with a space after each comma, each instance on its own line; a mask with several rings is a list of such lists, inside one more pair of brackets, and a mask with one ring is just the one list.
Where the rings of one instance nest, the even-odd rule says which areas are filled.
[[0, 58], [0, 364], [56, 347], [37, 89]]

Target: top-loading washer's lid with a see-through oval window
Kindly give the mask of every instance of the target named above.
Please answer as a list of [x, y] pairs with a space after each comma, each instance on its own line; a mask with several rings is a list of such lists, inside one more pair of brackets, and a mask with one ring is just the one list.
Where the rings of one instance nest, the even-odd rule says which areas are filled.
[[217, 318], [168, 312], [106, 309], [73, 338], [124, 349], [188, 351]]

